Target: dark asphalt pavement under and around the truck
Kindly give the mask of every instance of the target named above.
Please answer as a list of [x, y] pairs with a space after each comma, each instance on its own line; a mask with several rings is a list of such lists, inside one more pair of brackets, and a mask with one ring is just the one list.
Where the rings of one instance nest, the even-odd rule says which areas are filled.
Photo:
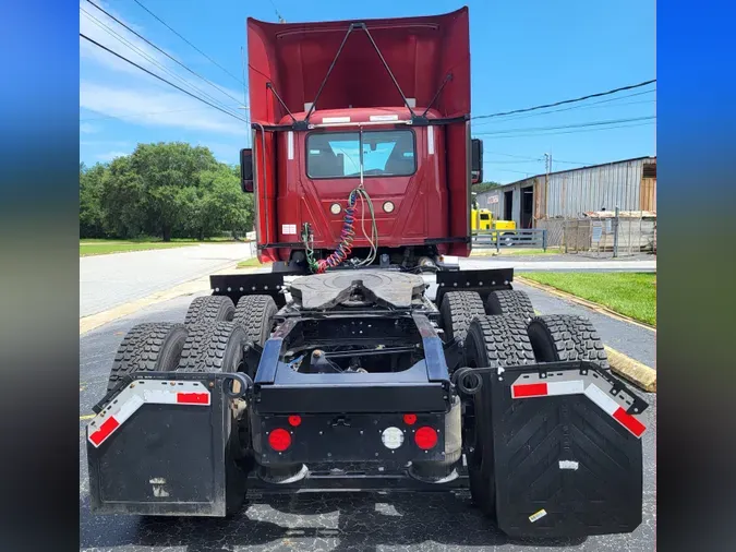
[[[655, 333], [592, 312], [544, 291], [524, 288], [542, 314], [589, 316], [603, 340], [619, 351], [654, 365]], [[183, 321], [192, 297], [152, 305], [101, 326], [80, 339], [80, 413], [86, 415], [104, 394], [116, 348], [140, 322]], [[509, 540], [458, 495], [367, 493], [294, 494], [251, 501], [233, 519], [153, 519], [93, 516], [88, 508], [86, 421], [80, 421], [80, 539], [84, 551], [611, 551], [654, 550], [655, 405], [656, 396], [640, 394], [651, 407], [643, 413], [643, 523], [631, 535], [545, 541]]]

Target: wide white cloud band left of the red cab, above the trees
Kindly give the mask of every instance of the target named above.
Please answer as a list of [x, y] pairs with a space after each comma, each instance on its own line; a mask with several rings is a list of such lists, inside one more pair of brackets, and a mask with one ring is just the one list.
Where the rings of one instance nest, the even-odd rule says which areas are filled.
[[136, 124], [208, 131], [242, 136], [243, 140], [249, 133], [245, 122], [177, 92], [82, 81], [80, 106]]

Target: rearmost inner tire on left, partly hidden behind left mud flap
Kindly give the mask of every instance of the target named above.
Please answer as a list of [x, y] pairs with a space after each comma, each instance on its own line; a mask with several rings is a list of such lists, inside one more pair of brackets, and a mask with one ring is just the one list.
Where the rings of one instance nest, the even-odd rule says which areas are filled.
[[[217, 322], [200, 324], [190, 328], [184, 344], [179, 371], [182, 372], [237, 372], [243, 360], [243, 349], [248, 344], [245, 329], [237, 323]], [[233, 412], [228, 409], [229, 412]], [[240, 431], [242, 422], [234, 416], [228, 424], [227, 447], [225, 449], [225, 503], [226, 515], [240, 512], [245, 502], [248, 472], [241, 466], [248, 466], [248, 431]], [[245, 446], [243, 446], [245, 445]]]

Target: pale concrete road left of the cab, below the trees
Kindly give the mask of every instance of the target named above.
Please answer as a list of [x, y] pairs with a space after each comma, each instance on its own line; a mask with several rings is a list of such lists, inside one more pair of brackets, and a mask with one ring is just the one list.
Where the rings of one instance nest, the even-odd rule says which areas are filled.
[[251, 243], [212, 243], [80, 257], [80, 317], [206, 276], [251, 256]]

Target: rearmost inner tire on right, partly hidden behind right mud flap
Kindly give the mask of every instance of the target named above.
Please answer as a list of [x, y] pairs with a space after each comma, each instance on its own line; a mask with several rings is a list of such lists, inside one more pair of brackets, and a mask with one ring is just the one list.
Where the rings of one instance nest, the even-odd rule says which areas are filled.
[[[498, 368], [533, 364], [534, 353], [527, 323], [508, 316], [479, 316], [468, 328], [464, 352], [470, 368]], [[493, 458], [493, 420], [490, 395], [473, 395], [472, 412], [462, 421], [467, 443], [468, 479], [473, 502], [488, 517], [496, 516], [496, 483]]]

